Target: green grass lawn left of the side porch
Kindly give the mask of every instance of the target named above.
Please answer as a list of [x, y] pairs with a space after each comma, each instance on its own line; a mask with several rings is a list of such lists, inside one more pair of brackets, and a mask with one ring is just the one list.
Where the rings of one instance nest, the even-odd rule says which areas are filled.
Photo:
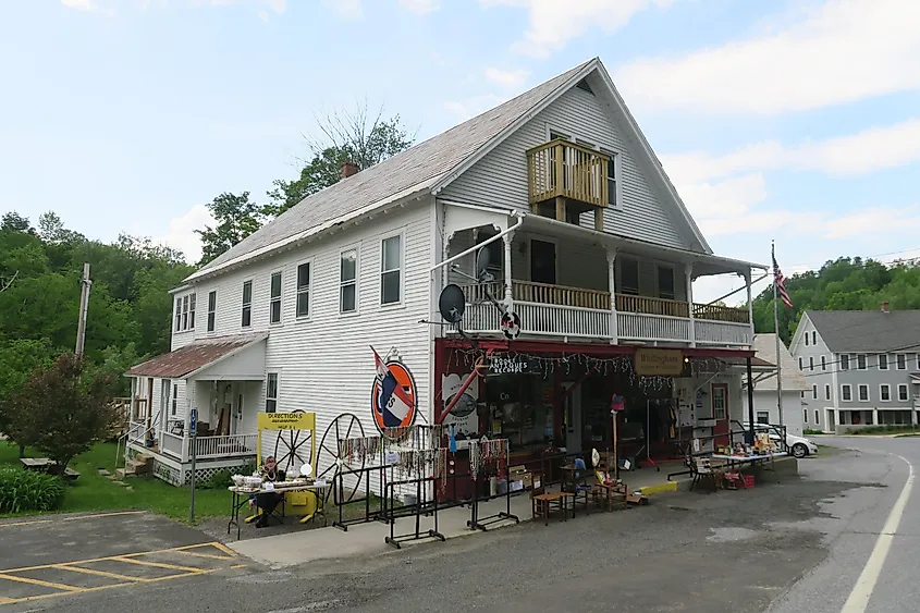
[[[27, 449], [26, 456], [39, 457], [40, 454]], [[79, 473], [79, 478], [68, 486], [64, 504], [58, 512], [144, 510], [188, 522], [191, 491], [187, 487], [176, 488], [156, 478], [128, 478], [124, 482], [132, 489], [127, 490], [97, 473], [98, 468], [111, 473], [114, 462], [114, 443], [99, 443], [77, 456], [70, 466]], [[20, 466], [19, 448], [0, 441], [0, 465]], [[230, 493], [226, 490], [195, 491], [196, 519], [229, 514]]]

